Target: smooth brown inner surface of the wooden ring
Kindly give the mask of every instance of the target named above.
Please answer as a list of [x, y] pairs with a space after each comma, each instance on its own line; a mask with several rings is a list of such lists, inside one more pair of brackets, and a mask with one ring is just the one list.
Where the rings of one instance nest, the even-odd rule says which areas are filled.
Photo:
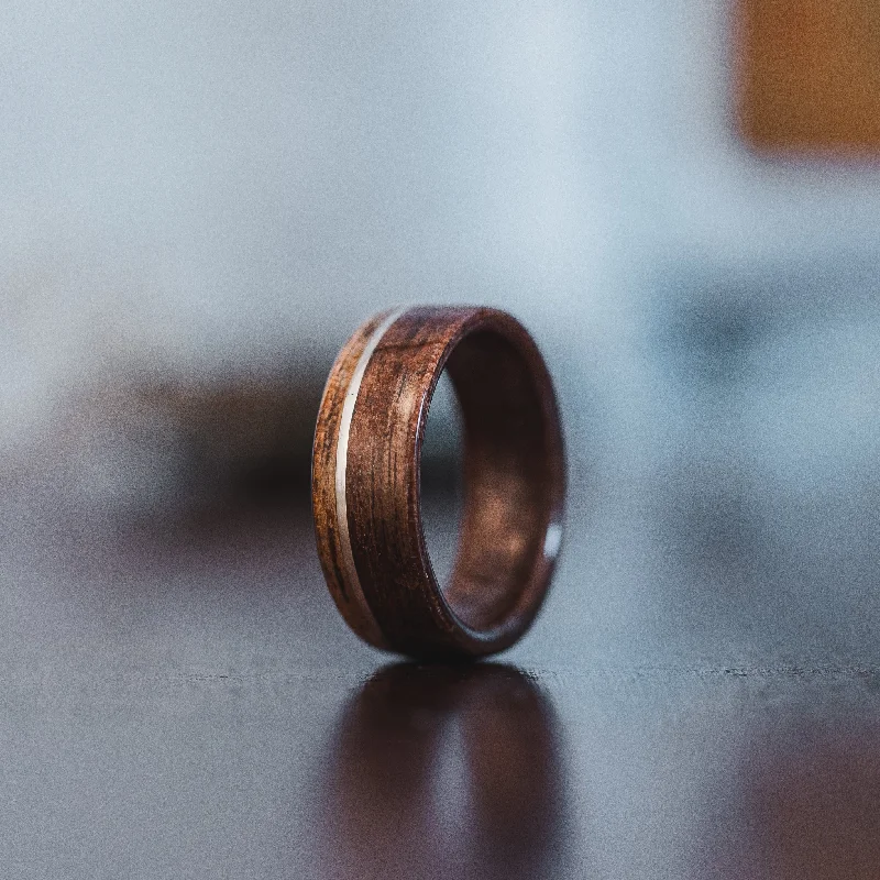
[[541, 558], [552, 482], [546, 408], [528, 363], [498, 333], [466, 336], [446, 370], [461, 404], [464, 505], [443, 593], [484, 631], [514, 609]]

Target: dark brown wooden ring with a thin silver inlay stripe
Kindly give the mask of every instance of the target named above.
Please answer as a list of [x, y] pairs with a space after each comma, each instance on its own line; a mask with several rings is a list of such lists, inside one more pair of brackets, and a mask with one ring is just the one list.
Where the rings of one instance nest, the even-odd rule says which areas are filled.
[[[422, 531], [420, 466], [444, 370], [464, 427], [464, 507], [441, 587]], [[339, 353], [315, 433], [312, 509], [330, 593], [367, 644], [425, 658], [513, 645], [550, 584], [564, 494], [553, 384], [512, 316], [463, 307], [383, 312]]]

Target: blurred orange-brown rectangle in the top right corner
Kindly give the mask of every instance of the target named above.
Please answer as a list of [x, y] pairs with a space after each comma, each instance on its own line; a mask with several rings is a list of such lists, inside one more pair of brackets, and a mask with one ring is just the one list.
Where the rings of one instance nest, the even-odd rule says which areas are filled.
[[880, 147], [880, 0], [739, 0], [737, 113], [772, 151]]

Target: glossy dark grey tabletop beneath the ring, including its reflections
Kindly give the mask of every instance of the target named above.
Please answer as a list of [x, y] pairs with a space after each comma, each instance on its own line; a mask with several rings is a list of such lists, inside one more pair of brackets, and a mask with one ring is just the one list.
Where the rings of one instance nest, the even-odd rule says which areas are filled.
[[3, 876], [880, 877], [864, 535], [810, 557], [674, 485], [575, 493], [537, 625], [471, 668], [359, 644], [305, 507], [19, 505]]

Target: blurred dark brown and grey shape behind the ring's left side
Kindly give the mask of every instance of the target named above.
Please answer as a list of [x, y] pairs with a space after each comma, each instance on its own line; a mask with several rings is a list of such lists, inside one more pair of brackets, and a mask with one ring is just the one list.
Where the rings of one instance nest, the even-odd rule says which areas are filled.
[[[308, 503], [323, 376], [105, 376], [59, 399], [43, 441], [3, 474], [7, 501], [124, 532]], [[62, 526], [63, 527], [63, 526]]]

